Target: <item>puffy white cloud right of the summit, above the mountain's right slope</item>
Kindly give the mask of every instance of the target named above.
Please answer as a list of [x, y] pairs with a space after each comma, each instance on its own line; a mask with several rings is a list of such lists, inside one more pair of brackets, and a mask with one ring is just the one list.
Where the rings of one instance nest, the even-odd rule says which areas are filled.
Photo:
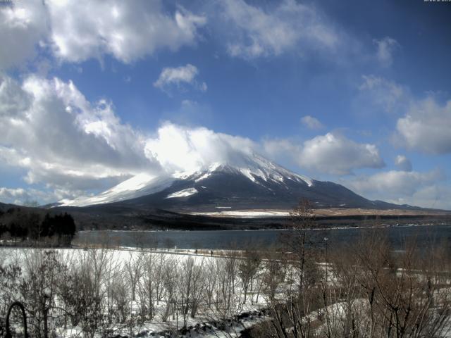
[[266, 140], [266, 154], [292, 158], [312, 172], [347, 175], [357, 168], [382, 168], [385, 164], [373, 144], [359, 144], [344, 136], [327, 133], [295, 144], [287, 139]]

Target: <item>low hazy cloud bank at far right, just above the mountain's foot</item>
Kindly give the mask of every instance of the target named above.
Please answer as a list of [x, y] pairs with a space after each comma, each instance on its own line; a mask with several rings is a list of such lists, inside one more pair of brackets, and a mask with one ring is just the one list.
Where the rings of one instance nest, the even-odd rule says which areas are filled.
[[354, 192], [369, 199], [424, 208], [451, 208], [451, 189], [441, 184], [445, 175], [440, 170], [426, 173], [390, 170], [353, 180], [342, 180]]

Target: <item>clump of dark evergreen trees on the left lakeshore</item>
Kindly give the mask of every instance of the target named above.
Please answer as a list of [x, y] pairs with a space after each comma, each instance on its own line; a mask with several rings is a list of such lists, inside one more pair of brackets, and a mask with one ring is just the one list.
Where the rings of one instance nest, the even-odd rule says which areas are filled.
[[75, 222], [68, 213], [43, 215], [28, 208], [0, 211], [0, 238], [6, 243], [68, 246], [75, 231]]

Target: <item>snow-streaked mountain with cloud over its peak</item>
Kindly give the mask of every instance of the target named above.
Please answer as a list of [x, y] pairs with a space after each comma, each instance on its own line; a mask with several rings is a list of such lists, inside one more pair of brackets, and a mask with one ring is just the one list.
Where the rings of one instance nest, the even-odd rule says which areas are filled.
[[64, 199], [54, 206], [108, 204], [188, 212], [290, 210], [299, 199], [309, 199], [318, 208], [409, 207], [370, 201], [340, 184], [298, 175], [254, 153], [188, 172], [159, 176], [142, 173], [101, 194]]

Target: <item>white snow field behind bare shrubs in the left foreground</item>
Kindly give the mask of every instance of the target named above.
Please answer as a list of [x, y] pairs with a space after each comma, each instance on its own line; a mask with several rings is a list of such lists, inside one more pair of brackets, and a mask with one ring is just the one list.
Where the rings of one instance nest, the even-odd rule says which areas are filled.
[[[45, 259], [44, 251], [0, 249], [0, 265], [20, 266], [27, 275]], [[158, 337], [153, 334], [191, 327], [190, 336], [186, 337], [197, 337], [197, 334], [199, 337], [237, 337], [245, 327], [261, 320], [257, 314], [266, 306], [262, 294], [257, 299], [251, 292], [248, 292], [247, 303], [244, 303], [245, 295], [234, 258], [130, 249], [57, 249], [56, 259], [67, 270], [75, 272], [87, 268], [89, 276], [94, 279], [99, 277], [97, 286], [102, 299], [102, 312], [104, 316], [113, 313], [118, 318], [106, 325], [113, 335]], [[230, 266], [230, 261], [235, 266]], [[68, 275], [70, 273], [67, 271], [61, 272], [58, 283], [65, 283]], [[58, 289], [58, 285], [50, 287]], [[1, 292], [6, 291], [0, 289], [0, 298], [4, 296]], [[72, 292], [76, 293], [77, 289]], [[57, 294], [58, 291], [55, 291], [54, 307], [65, 308], [64, 300]], [[20, 299], [19, 293], [11, 296]], [[154, 300], [150, 301], [151, 298]], [[27, 303], [25, 299], [23, 301]], [[4, 308], [1, 306], [0, 311]], [[86, 336], [83, 325], [60, 325], [61, 313], [57, 310], [51, 312], [52, 318], [60, 318], [50, 323], [58, 337]], [[254, 315], [228, 323], [229, 319], [243, 312]], [[120, 319], [123, 316], [125, 320]], [[221, 324], [223, 321], [228, 323], [226, 328]], [[98, 329], [95, 335], [101, 335], [101, 330], [105, 329]]]

